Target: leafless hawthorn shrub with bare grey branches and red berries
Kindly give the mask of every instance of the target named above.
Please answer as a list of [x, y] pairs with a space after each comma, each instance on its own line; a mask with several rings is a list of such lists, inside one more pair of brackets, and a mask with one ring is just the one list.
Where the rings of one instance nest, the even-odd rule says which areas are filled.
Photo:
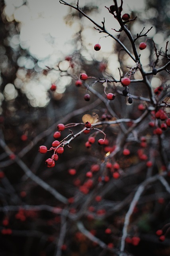
[[[158, 49], [147, 37], [152, 28], [133, 34], [137, 17], [123, 12], [122, 0], [113, 2], [105, 8], [119, 23], [117, 36], [106, 30], [105, 19], [97, 24], [78, 2], [60, 0], [115, 40], [119, 78], [107, 61], [87, 61], [76, 50], [44, 71], [72, 79], [52, 124], [45, 127], [49, 112], [46, 118], [40, 112], [38, 134], [32, 124], [36, 136], [22, 134], [14, 152], [1, 117], [0, 232], [8, 255], [10, 248], [14, 255], [168, 255], [168, 42]], [[100, 54], [102, 42], [93, 48]], [[147, 48], [150, 62], [143, 66]], [[125, 66], [124, 56], [134, 64]], [[52, 83], [51, 102], [56, 88]]]

